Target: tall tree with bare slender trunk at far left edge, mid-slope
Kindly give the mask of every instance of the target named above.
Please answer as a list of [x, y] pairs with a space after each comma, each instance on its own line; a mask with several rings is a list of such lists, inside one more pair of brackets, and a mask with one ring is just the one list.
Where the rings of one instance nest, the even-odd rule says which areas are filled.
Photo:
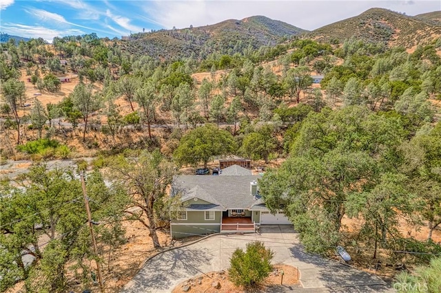
[[19, 107], [24, 105], [25, 95], [25, 83], [15, 78], [10, 78], [1, 87], [1, 94], [6, 104], [9, 105], [12, 113], [14, 114], [15, 123], [17, 126], [17, 144], [20, 144], [20, 122]]

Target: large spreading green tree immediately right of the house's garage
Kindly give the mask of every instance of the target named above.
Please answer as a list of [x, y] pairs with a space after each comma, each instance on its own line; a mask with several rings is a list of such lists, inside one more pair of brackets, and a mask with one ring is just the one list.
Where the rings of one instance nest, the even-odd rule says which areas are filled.
[[342, 237], [348, 199], [374, 194], [382, 173], [400, 166], [402, 125], [366, 107], [325, 108], [309, 113], [292, 137], [289, 159], [264, 175], [260, 191], [271, 211], [285, 207], [307, 250], [325, 253]]

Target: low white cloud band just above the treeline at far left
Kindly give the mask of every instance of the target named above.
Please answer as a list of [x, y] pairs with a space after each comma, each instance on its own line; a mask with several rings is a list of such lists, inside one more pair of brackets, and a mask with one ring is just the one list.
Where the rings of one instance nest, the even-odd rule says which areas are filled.
[[45, 28], [39, 25], [21, 25], [18, 23], [6, 23], [2, 25], [1, 30], [8, 34], [15, 34], [18, 36], [24, 36], [26, 38], [43, 38], [45, 41], [52, 43], [54, 36], [70, 36], [77, 34], [84, 34], [82, 30], [68, 29], [68, 30], [55, 30], [51, 28]]

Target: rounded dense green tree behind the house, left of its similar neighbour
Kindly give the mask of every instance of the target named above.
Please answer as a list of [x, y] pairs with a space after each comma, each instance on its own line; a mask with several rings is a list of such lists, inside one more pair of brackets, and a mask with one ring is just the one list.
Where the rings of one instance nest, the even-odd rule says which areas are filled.
[[203, 162], [204, 167], [214, 155], [229, 155], [236, 150], [236, 142], [231, 133], [218, 129], [213, 124], [196, 127], [181, 138], [173, 153], [178, 164], [196, 166]]

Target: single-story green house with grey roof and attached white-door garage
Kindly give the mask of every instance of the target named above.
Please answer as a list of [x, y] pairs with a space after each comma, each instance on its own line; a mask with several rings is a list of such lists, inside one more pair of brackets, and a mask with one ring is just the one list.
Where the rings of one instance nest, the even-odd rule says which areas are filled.
[[[242, 172], [245, 173], [239, 173]], [[259, 175], [225, 173], [221, 176], [176, 176], [171, 192], [172, 196], [181, 195], [183, 210], [170, 222], [172, 238], [217, 232], [255, 232], [260, 225], [291, 224], [283, 213], [273, 215], [269, 212], [258, 192], [259, 178]]]

